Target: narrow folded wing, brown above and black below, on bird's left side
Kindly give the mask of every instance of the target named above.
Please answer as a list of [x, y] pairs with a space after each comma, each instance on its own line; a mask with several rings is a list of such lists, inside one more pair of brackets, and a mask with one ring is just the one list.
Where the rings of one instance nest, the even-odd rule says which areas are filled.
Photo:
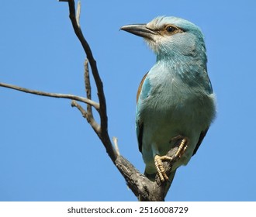
[[[140, 81], [140, 85], [139, 85], [139, 88], [137, 91], [137, 104], [138, 104], [138, 101], [140, 98], [140, 93], [142, 91], [142, 87], [143, 87], [146, 77], [147, 77], [147, 74], [145, 74], [144, 77], [142, 78], [142, 80]], [[149, 88], [146, 88], [146, 89], [147, 89], [147, 91], [149, 91]], [[146, 93], [146, 95], [147, 95], [147, 93]], [[139, 150], [140, 150], [140, 152], [142, 152], [142, 137], [143, 137], [144, 123], [140, 119], [140, 115], [138, 115], [140, 112], [139, 110], [140, 110], [140, 108], [138, 108], [138, 106], [137, 106], [136, 133], [137, 133], [137, 140], [138, 140], [138, 144], [139, 144]]]

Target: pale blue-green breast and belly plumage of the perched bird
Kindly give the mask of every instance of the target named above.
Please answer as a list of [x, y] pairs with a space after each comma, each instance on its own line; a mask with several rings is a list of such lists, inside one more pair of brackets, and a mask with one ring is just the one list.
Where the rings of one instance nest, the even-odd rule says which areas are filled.
[[149, 95], [140, 103], [146, 140], [166, 143], [171, 136], [192, 136], [209, 126], [211, 99], [199, 87], [172, 74], [150, 77], [150, 84]]

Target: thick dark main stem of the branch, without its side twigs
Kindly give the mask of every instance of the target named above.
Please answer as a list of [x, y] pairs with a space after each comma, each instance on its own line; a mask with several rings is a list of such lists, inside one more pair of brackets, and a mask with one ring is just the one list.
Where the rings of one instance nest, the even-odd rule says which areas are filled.
[[[125, 178], [128, 186], [132, 189], [133, 193], [140, 197], [142, 201], [164, 201], [165, 197], [165, 183], [162, 183], [159, 177], [156, 177], [156, 181], [150, 181], [143, 174], [140, 174], [139, 171], [128, 160], [126, 160], [121, 155], [117, 154], [116, 150], [113, 149], [112, 143], [109, 139], [108, 133], [108, 118], [106, 114], [106, 99], [103, 90], [103, 84], [101, 78], [99, 76], [99, 71], [97, 68], [96, 61], [92, 55], [92, 50], [88, 45], [88, 42], [85, 40], [83, 33], [81, 32], [80, 26], [78, 26], [77, 19], [75, 19], [75, 6], [74, 0], [68, 0], [70, 19], [72, 22], [72, 26], [74, 29], [74, 33], [78, 36], [78, 40], [80, 40], [82, 47], [85, 50], [85, 53], [88, 58], [88, 62], [92, 68], [92, 75], [95, 80], [95, 84], [98, 91], [99, 97], [99, 115], [101, 119], [101, 133], [97, 133], [100, 140], [102, 140], [103, 145], [106, 147], [107, 153], [109, 153], [109, 157], [112, 159], [113, 163], [119, 169], [120, 173]], [[87, 67], [88, 68], [88, 67]], [[85, 67], [86, 73], [86, 67]], [[88, 80], [88, 77], [85, 77], [85, 82]], [[88, 84], [85, 84], [86, 90], [90, 90]], [[88, 95], [87, 95], [88, 96]], [[88, 97], [89, 98], [89, 97]], [[171, 150], [171, 157], [174, 157], [175, 149]], [[173, 164], [173, 162], [172, 162]], [[170, 162], [164, 163], [166, 167], [167, 174], [171, 174], [171, 165]]]

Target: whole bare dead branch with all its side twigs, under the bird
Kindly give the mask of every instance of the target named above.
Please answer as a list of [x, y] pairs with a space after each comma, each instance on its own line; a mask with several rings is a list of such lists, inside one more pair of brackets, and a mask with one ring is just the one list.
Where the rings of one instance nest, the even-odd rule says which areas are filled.
[[[109, 154], [109, 157], [111, 158], [112, 162], [116, 165], [117, 169], [123, 175], [123, 177], [126, 180], [126, 184], [133, 191], [134, 195], [136, 195], [137, 198], [140, 198], [141, 201], [164, 201], [164, 197], [166, 195], [167, 183], [166, 182], [162, 183], [158, 176], [155, 177], [155, 181], [150, 181], [147, 177], [144, 176], [144, 174], [141, 174], [140, 171], [137, 171], [137, 169], [133, 166], [133, 164], [131, 164], [128, 160], [126, 160], [123, 156], [120, 155], [118, 146], [117, 146], [117, 139], [114, 139], [114, 142], [113, 142], [114, 146], [116, 146], [116, 149], [112, 145], [112, 142], [109, 139], [109, 133], [108, 133], [106, 98], [103, 90], [102, 80], [101, 80], [101, 77], [99, 76], [98, 67], [92, 55], [92, 50], [89, 47], [88, 42], [85, 40], [85, 37], [83, 36], [83, 33], [81, 31], [81, 26], [79, 23], [81, 4], [80, 2], [78, 3], [78, 9], [76, 12], [74, 0], [59, 0], [59, 2], [68, 2], [69, 17], [71, 19], [74, 33], [78, 37], [78, 40], [80, 41], [81, 46], [83, 47], [86, 54], [84, 77], [85, 77], [85, 92], [86, 92], [87, 98], [76, 96], [76, 95], [65, 95], [65, 94], [56, 94], [56, 93], [30, 90], [27, 88], [21, 88], [16, 85], [5, 84], [5, 83], [0, 83], [0, 86], [4, 88], [12, 88], [16, 91], [23, 91], [33, 95], [43, 95], [47, 97], [71, 99], [72, 107], [78, 108], [78, 110], [81, 112], [81, 115], [87, 120], [90, 126], [92, 126], [92, 129], [94, 129], [95, 133], [97, 134], [97, 136], [99, 136], [99, 139], [102, 141], [102, 144], [105, 146], [106, 152]], [[91, 67], [92, 75], [96, 84], [99, 103], [92, 101], [92, 88], [91, 88], [88, 64]], [[85, 103], [87, 105], [86, 109], [83, 108], [82, 105], [78, 104], [78, 102]], [[95, 121], [92, 114], [92, 107], [95, 108], [97, 112], [99, 112], [100, 123]], [[172, 160], [164, 162], [164, 169], [168, 176], [171, 174], [172, 165], [177, 160], [177, 156], [175, 155], [175, 153], [177, 153], [177, 150], [178, 150], [177, 147], [170, 150], [167, 156], [171, 157]], [[170, 183], [168, 183], [168, 186], [171, 185], [171, 181]]]

